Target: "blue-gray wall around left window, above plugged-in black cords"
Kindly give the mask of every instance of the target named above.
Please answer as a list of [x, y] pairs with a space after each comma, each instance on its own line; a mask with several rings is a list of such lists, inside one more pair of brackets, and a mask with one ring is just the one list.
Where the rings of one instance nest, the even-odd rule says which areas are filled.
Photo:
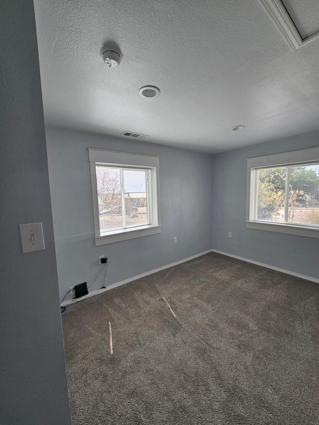
[[[61, 299], [93, 282], [100, 255], [108, 286], [211, 249], [211, 155], [53, 127], [46, 141]], [[95, 247], [88, 147], [160, 157], [160, 234]], [[90, 290], [99, 287], [101, 279]]]

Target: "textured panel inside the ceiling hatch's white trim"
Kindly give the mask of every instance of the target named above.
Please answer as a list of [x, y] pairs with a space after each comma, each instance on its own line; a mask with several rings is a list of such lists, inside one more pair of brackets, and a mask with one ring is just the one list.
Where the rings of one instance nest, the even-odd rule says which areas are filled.
[[302, 38], [319, 30], [318, 0], [282, 0]]

